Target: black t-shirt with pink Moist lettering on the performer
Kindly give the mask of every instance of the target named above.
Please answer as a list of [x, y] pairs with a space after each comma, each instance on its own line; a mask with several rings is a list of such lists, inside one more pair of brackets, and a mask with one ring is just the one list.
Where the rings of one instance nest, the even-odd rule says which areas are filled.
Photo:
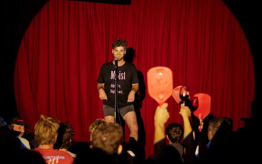
[[[132, 89], [132, 84], [138, 83], [136, 66], [125, 62], [118, 67], [118, 106], [119, 108], [132, 105], [127, 102], [128, 94]], [[103, 104], [109, 107], [115, 106], [115, 66], [113, 62], [104, 63], [101, 67], [97, 82], [105, 83], [105, 92], [108, 100], [103, 100]]]

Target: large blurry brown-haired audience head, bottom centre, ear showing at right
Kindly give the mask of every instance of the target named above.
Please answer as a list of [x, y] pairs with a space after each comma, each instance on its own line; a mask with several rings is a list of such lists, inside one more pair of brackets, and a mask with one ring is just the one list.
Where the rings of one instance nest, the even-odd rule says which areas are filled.
[[108, 154], [122, 152], [123, 130], [117, 123], [107, 123], [97, 127], [92, 133], [92, 147]]

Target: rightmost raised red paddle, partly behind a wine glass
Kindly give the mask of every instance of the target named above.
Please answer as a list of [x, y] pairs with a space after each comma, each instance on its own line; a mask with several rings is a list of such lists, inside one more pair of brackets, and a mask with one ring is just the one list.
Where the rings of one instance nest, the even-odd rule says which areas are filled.
[[[194, 115], [199, 119], [200, 126], [202, 126], [203, 119], [210, 113], [211, 97], [206, 93], [197, 93], [194, 95], [192, 105], [197, 108]], [[201, 132], [202, 129], [200, 128], [199, 131]]]

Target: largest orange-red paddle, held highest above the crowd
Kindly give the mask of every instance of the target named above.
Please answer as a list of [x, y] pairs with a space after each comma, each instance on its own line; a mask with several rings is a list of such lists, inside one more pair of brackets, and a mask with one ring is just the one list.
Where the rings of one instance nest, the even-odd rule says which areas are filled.
[[167, 67], [153, 67], [147, 71], [147, 86], [150, 97], [161, 106], [172, 94], [173, 74]]

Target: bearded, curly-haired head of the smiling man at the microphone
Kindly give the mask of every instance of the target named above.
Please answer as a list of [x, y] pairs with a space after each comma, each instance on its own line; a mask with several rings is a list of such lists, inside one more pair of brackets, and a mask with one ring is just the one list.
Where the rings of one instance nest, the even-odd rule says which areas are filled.
[[112, 53], [114, 57], [121, 61], [126, 54], [127, 41], [124, 39], [116, 39], [112, 44]]

